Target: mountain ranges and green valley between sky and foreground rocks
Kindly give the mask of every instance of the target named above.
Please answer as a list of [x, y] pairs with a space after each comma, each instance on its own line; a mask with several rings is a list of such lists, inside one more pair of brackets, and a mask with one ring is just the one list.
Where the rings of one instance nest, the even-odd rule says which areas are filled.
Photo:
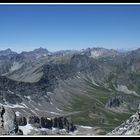
[[106, 134], [140, 102], [140, 49], [0, 51], [0, 104], [19, 116], [70, 116]]

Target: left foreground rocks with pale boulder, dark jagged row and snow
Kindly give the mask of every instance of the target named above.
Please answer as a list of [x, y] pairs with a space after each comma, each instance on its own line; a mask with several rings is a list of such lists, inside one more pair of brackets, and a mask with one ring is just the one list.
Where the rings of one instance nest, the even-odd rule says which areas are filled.
[[0, 106], [0, 135], [66, 135], [76, 130], [70, 118], [16, 116], [7, 107]]

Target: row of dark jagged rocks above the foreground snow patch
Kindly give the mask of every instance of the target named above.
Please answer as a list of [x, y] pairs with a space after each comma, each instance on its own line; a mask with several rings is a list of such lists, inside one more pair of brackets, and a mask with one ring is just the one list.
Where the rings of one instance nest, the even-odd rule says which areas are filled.
[[46, 128], [58, 130], [65, 129], [66, 132], [73, 132], [76, 130], [76, 126], [73, 124], [70, 118], [66, 117], [39, 117], [39, 116], [29, 116], [29, 117], [17, 117], [17, 123], [19, 126], [26, 126], [31, 124], [34, 128]]

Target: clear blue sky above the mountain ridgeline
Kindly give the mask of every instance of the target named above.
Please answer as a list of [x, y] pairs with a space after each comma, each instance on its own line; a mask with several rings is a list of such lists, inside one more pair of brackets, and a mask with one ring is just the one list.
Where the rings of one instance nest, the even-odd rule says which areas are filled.
[[140, 5], [0, 5], [0, 50], [140, 47]]

